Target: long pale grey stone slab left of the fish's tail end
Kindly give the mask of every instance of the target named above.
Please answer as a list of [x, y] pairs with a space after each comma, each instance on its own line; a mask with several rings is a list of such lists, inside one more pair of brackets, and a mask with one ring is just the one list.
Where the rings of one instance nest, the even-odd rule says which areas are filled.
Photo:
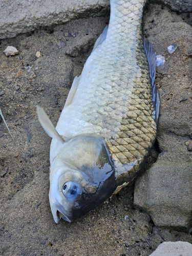
[[90, 14], [98, 16], [106, 8], [109, 8], [108, 0], [3, 0], [0, 8], [0, 39]]

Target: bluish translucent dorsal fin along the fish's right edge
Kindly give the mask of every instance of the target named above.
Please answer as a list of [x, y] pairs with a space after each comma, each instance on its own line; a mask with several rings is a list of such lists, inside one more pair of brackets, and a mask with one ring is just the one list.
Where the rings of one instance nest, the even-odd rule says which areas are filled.
[[155, 55], [155, 50], [153, 48], [152, 43], [148, 41], [145, 37], [143, 37], [143, 45], [144, 45], [144, 50], [148, 59], [148, 65], [150, 66], [150, 77], [152, 79], [152, 94], [153, 94], [153, 103], [155, 106], [154, 120], [156, 124], [158, 124], [160, 101], [159, 101], [159, 93], [157, 91], [156, 84], [155, 84], [156, 55]]

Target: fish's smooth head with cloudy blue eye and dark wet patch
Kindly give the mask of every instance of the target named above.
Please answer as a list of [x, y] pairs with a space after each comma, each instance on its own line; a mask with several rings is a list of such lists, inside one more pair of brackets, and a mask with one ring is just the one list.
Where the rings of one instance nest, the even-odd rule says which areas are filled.
[[[91, 145], [89, 157], [84, 153], [81, 157], [73, 155], [73, 158], [70, 158], [72, 152], [68, 155], [69, 151], [64, 154], [65, 157], [64, 152], [58, 156], [62, 158], [63, 165], [56, 167], [52, 172], [49, 193], [56, 223], [61, 218], [72, 222], [87, 214], [108, 199], [116, 189], [115, 169], [105, 147], [100, 142], [100, 147], [95, 141], [91, 144], [96, 144], [97, 150], [102, 151], [102, 154], [94, 151], [93, 155], [93, 152], [90, 152], [90, 148], [93, 148]], [[57, 160], [59, 162], [59, 159]]]

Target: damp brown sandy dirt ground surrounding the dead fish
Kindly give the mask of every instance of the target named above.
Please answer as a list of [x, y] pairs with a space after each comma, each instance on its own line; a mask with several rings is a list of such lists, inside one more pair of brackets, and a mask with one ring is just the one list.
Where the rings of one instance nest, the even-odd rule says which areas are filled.
[[[0, 42], [0, 108], [14, 137], [12, 140], [0, 120], [0, 254], [147, 256], [163, 241], [192, 243], [192, 232], [158, 229], [144, 211], [135, 209], [134, 185], [73, 223], [53, 221], [48, 198], [51, 138], [37, 120], [35, 105], [41, 105], [56, 125], [74, 77], [80, 75], [108, 22], [106, 13]], [[156, 79], [161, 114], [172, 102], [170, 115], [176, 119], [177, 115], [192, 116], [186, 104], [192, 99], [192, 28], [187, 23], [192, 24], [192, 13], [147, 5], [144, 35], [166, 59], [166, 66], [157, 69]], [[180, 38], [175, 37], [177, 28], [181, 29]], [[168, 55], [166, 48], [173, 42], [180, 46]], [[6, 57], [3, 51], [7, 46], [16, 47], [19, 55]], [[38, 51], [41, 56], [37, 58]], [[177, 74], [184, 71], [179, 79]], [[170, 83], [178, 83], [177, 104], [172, 90], [165, 93], [163, 89]], [[184, 98], [187, 100], [178, 109]], [[188, 135], [184, 132], [181, 136]], [[148, 164], [155, 161], [154, 155]]]

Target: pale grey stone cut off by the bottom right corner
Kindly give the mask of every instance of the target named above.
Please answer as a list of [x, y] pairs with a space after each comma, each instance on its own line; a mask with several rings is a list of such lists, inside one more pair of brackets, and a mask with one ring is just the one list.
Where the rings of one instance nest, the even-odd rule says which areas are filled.
[[187, 242], [164, 242], [150, 256], [190, 256], [192, 245]]

